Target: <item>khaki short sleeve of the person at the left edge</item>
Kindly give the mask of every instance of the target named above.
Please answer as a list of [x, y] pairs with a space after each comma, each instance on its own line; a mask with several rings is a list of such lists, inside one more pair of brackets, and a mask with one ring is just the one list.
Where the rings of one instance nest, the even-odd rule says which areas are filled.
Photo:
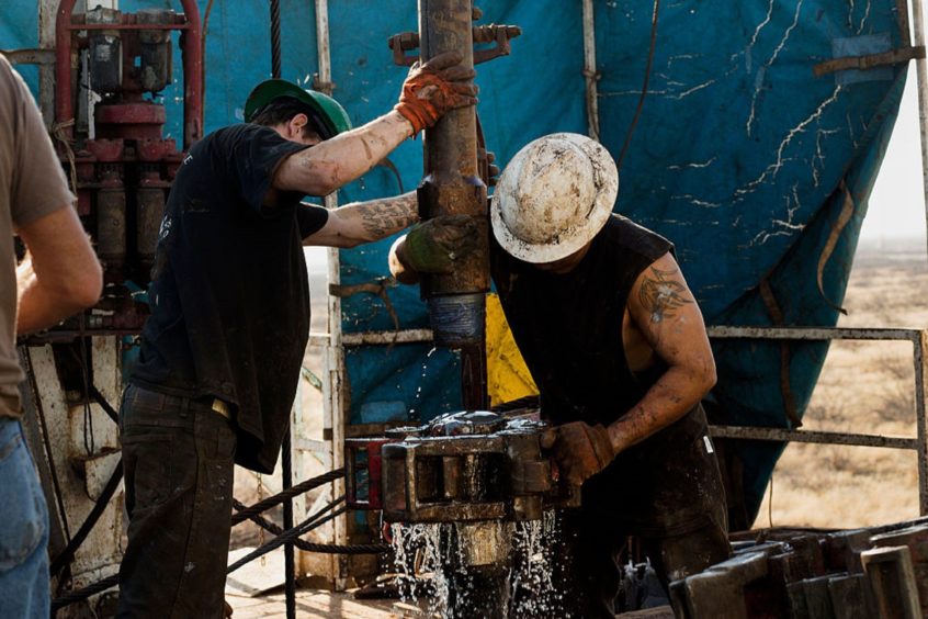
[[2, 90], [11, 95], [8, 99], [13, 120], [10, 209], [13, 226], [20, 228], [70, 206], [75, 196], [68, 190], [61, 162], [32, 93], [5, 59], [0, 61], [0, 82], [5, 82]]

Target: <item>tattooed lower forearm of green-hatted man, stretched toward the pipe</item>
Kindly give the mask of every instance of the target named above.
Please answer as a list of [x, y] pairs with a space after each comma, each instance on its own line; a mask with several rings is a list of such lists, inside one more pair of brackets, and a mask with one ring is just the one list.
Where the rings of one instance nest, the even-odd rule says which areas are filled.
[[395, 198], [346, 204], [329, 211], [326, 225], [303, 239], [303, 245], [355, 247], [386, 238], [419, 221], [416, 192]]

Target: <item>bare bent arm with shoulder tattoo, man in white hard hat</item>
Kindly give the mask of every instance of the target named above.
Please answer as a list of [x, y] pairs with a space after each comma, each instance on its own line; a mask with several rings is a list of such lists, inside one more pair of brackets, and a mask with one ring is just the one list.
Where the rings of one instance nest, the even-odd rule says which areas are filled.
[[641, 402], [609, 426], [615, 452], [669, 426], [715, 384], [715, 361], [702, 313], [670, 254], [635, 281], [627, 305], [632, 326], [667, 364]]

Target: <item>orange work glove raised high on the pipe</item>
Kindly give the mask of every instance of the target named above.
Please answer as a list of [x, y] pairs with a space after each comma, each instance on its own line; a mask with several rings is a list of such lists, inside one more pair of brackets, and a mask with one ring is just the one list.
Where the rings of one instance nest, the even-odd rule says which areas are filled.
[[477, 102], [476, 72], [460, 66], [460, 52], [439, 54], [409, 69], [399, 103], [394, 108], [412, 124], [412, 135], [434, 125], [450, 110]]

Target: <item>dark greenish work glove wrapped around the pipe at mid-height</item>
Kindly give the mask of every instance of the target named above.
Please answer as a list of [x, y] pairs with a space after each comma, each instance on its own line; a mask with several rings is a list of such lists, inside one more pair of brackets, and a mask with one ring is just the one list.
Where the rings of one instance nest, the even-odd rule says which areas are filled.
[[450, 273], [477, 246], [477, 226], [468, 215], [440, 215], [416, 224], [397, 250], [405, 266], [419, 273]]

